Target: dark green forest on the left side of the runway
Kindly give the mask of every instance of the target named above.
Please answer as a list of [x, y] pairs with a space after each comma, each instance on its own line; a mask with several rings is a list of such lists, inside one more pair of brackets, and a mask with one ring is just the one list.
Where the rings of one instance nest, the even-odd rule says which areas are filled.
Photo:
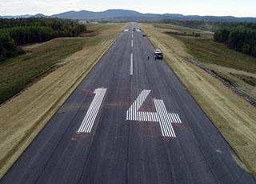
[[0, 62], [24, 51], [21, 45], [58, 37], [77, 37], [86, 26], [59, 18], [0, 18]]

